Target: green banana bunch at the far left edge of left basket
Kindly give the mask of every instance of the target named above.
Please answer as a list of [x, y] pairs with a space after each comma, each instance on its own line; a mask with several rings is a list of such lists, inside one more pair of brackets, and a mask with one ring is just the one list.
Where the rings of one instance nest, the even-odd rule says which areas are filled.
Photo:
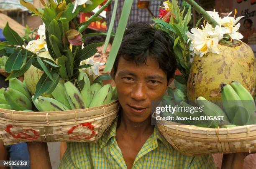
[[31, 110], [31, 95], [26, 85], [17, 78], [9, 80], [8, 88], [0, 89], [0, 108], [13, 110]]

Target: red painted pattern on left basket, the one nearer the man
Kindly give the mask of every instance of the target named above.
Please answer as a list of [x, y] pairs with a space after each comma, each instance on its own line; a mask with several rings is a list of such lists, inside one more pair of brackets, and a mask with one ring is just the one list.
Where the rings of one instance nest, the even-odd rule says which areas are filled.
[[89, 135], [89, 136], [85, 136], [84, 134], [77, 134], [77, 135], [74, 135], [74, 136], [70, 137], [69, 139], [74, 139], [74, 140], [77, 140], [77, 139], [90, 139], [90, 138], [92, 138], [92, 136], [94, 136], [96, 134], [95, 131], [94, 131], [94, 125], [92, 125], [91, 122], [82, 123], [82, 124], [79, 124], [79, 125], [71, 127], [69, 129], [69, 131], [68, 131], [68, 134], [72, 134], [73, 130], [76, 129], [78, 126], [87, 127], [88, 129], [91, 130], [92, 134]]

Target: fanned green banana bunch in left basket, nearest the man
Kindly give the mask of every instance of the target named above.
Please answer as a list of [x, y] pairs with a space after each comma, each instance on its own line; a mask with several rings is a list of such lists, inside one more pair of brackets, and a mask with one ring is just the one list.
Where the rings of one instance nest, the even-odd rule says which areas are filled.
[[34, 99], [33, 104], [40, 112], [84, 109], [114, 102], [111, 85], [103, 86], [101, 82], [90, 85], [87, 74], [81, 72], [78, 76], [77, 87], [72, 82], [58, 83], [51, 93], [54, 98], [42, 97]]

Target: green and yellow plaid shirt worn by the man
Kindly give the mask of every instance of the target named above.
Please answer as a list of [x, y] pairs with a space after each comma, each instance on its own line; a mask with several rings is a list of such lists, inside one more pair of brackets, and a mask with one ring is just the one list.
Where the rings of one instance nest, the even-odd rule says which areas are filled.
[[[67, 143], [61, 169], [126, 169], [115, 139], [117, 118], [97, 143]], [[155, 127], [139, 151], [133, 169], [215, 169], [211, 155], [188, 157], [174, 149]]]

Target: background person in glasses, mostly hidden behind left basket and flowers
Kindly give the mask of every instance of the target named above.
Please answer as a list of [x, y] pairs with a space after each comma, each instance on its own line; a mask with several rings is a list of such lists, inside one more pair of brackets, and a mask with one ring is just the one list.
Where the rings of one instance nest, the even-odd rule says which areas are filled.
[[[87, 37], [84, 40], [84, 46], [90, 45], [92, 43], [100, 43], [100, 42], [105, 42], [106, 36], [103, 35], [99, 35], [99, 36], [91, 36], [91, 37]], [[110, 49], [111, 49], [111, 45], [113, 42], [113, 38], [110, 38], [107, 50], [105, 53], [103, 53], [103, 49], [104, 49], [104, 45], [97, 47], [97, 53], [95, 53], [95, 55], [93, 56], [93, 60], [95, 62], [107, 62], [108, 60], [108, 55], [110, 53]], [[104, 74], [103, 70], [105, 68], [105, 65], [100, 66], [100, 74]], [[115, 82], [111, 79], [111, 80], [104, 80], [104, 85], [105, 84], [110, 84], [112, 86], [115, 86]], [[67, 149], [67, 144], [66, 142], [61, 142], [60, 145], [60, 159], [62, 159], [63, 154], [65, 153]]]

